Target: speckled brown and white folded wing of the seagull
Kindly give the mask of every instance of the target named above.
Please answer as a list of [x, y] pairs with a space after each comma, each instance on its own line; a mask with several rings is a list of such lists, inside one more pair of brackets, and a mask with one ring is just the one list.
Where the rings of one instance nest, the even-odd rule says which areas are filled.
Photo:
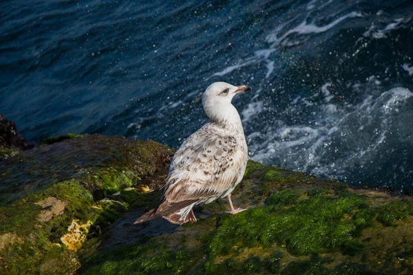
[[156, 214], [166, 215], [225, 195], [244, 173], [244, 144], [211, 124], [193, 133], [173, 157]]

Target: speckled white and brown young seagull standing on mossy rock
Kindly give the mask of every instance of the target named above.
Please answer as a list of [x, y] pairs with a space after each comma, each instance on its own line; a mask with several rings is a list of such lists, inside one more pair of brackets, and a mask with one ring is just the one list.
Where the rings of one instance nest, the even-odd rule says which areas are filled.
[[236, 94], [251, 87], [216, 82], [202, 95], [202, 106], [209, 122], [185, 140], [169, 166], [164, 195], [159, 205], [135, 223], [162, 217], [171, 223], [196, 221], [193, 206], [227, 197], [231, 214], [235, 209], [231, 192], [244, 176], [248, 148], [240, 114], [231, 104]]

